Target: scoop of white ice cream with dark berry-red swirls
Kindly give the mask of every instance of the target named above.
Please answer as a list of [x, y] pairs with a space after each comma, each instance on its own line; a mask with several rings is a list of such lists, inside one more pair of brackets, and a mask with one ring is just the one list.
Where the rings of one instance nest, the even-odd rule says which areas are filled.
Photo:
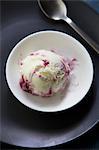
[[60, 55], [38, 50], [22, 60], [20, 86], [31, 94], [52, 96], [65, 88], [70, 70]]

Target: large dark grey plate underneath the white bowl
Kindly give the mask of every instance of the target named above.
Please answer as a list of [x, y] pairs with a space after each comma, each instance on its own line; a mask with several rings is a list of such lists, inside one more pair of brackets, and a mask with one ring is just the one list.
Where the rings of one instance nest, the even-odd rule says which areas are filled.
[[[74, 12], [78, 5], [78, 11], [86, 8], [82, 2], [67, 3]], [[71, 17], [75, 18], [75, 15], [70, 13]], [[45, 18], [36, 1], [2, 2], [2, 16], [1, 141], [23, 147], [48, 147], [66, 143], [91, 129], [99, 120], [99, 56], [67, 24]], [[31, 33], [47, 29], [74, 36], [86, 47], [94, 64], [94, 80], [85, 98], [75, 107], [59, 113], [41, 113], [25, 107], [12, 95], [5, 78], [6, 60], [17, 42]], [[92, 32], [92, 29], [88, 31]], [[99, 37], [98, 31], [96, 33], [94, 39]]]

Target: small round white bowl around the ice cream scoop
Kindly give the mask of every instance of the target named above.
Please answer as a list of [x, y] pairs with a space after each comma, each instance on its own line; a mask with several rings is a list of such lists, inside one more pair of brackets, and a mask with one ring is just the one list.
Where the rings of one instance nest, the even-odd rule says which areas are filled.
[[[19, 85], [20, 59], [39, 49], [54, 49], [65, 58], [76, 58], [77, 64], [68, 87], [52, 97], [33, 96]], [[42, 112], [68, 109], [80, 102], [93, 80], [93, 64], [86, 49], [73, 37], [58, 31], [41, 31], [21, 40], [11, 51], [6, 64], [6, 78], [13, 95], [24, 105]]]

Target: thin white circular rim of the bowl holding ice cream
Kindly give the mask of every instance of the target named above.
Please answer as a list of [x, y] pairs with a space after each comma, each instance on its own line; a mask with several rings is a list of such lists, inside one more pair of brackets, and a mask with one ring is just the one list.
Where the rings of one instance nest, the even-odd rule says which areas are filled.
[[[8, 79], [8, 78], [9, 78], [9, 77], [8, 77], [8, 66], [9, 66], [9, 61], [10, 61], [10, 59], [11, 59], [11, 57], [12, 57], [12, 55], [13, 55], [15, 49], [16, 49], [18, 46], [20, 46], [21, 43], [23, 43], [25, 40], [27, 40], [27, 39], [29, 39], [29, 38], [31, 38], [31, 37], [34, 37], [35, 35], [45, 34], [45, 33], [55, 33], [55, 34], [60, 34], [60, 35], [65, 36], [65, 37], [69, 37], [69, 38], [72, 39], [75, 43], [77, 43], [80, 47], [82, 47], [83, 52], [85, 52], [85, 53], [87, 54], [87, 56], [89, 57], [90, 62], [91, 62], [92, 77], [91, 77], [91, 80], [90, 80], [89, 87], [88, 87], [86, 93], [83, 95], [83, 97], [82, 97], [78, 102], [76, 102], [76, 103], [73, 104], [72, 106], [69, 106], [68, 108], [63, 108], [63, 109], [59, 109], [59, 110], [50, 110], [50, 111], [49, 111], [49, 110], [41, 110], [41, 109], [39, 110], [39, 109], [33, 108], [33, 107], [27, 105], [26, 103], [24, 103], [24, 101], [20, 100], [19, 97], [17, 97], [16, 94], [13, 92], [13, 89], [12, 89], [11, 86], [10, 86], [11, 84], [10, 84], [9, 79]], [[67, 34], [67, 33], [65, 33], [65, 32], [57, 31], [57, 30], [42, 30], [42, 31], [37, 31], [37, 32], [31, 33], [31, 34], [25, 36], [24, 38], [22, 38], [22, 39], [12, 48], [12, 50], [11, 50], [10, 53], [9, 53], [9, 55], [8, 55], [8, 57], [7, 57], [7, 61], [6, 61], [5, 72], [6, 72], [6, 81], [7, 81], [8, 87], [9, 87], [11, 93], [14, 95], [14, 97], [15, 97], [21, 104], [23, 104], [24, 106], [26, 106], [26, 107], [28, 107], [28, 108], [30, 108], [30, 109], [32, 109], [32, 110], [36, 110], [36, 111], [39, 111], [39, 112], [45, 112], [45, 113], [53, 113], [53, 112], [65, 111], [65, 110], [68, 110], [68, 109], [74, 107], [74, 106], [77, 105], [78, 103], [80, 103], [80, 102], [83, 100], [83, 98], [86, 96], [86, 94], [88, 93], [88, 91], [89, 91], [89, 89], [90, 89], [90, 87], [91, 87], [91, 85], [92, 85], [93, 76], [94, 76], [93, 62], [92, 62], [91, 56], [89, 55], [87, 49], [86, 49], [76, 38], [74, 38], [73, 36], [71, 36], [71, 35], [69, 35], [69, 34]]]

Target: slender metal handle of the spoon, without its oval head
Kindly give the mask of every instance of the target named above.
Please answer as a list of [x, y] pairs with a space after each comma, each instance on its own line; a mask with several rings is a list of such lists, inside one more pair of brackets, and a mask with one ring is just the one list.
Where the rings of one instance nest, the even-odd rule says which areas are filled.
[[66, 21], [98, 54], [99, 45], [96, 44], [86, 33], [84, 33], [70, 18], [63, 19]]

